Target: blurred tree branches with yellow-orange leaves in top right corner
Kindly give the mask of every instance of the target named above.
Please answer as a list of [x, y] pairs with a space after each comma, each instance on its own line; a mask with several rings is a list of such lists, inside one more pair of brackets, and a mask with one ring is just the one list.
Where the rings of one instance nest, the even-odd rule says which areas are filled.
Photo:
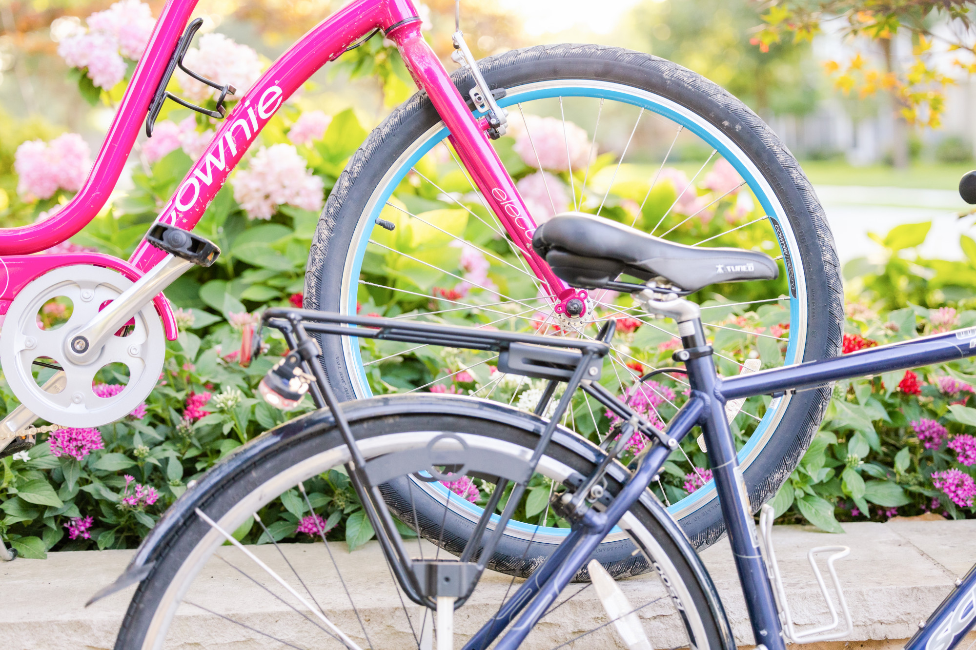
[[[767, 51], [788, 41], [809, 42], [825, 29], [839, 31], [856, 53], [846, 61], [827, 61], [827, 70], [845, 94], [856, 92], [865, 98], [881, 92], [891, 98], [896, 112], [894, 162], [905, 166], [908, 127], [938, 127], [945, 86], [954, 83], [939, 69], [939, 54], [956, 52], [953, 66], [965, 74], [976, 72], [970, 4], [967, 0], [773, 0], [764, 3], [765, 24], [753, 43]], [[911, 48], [911, 52], [899, 51], [902, 43], [901, 49]]]

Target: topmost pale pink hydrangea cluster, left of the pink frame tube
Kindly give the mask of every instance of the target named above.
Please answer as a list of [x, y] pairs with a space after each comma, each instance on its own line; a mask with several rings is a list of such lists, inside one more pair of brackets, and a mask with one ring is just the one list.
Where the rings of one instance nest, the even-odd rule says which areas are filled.
[[68, 65], [87, 68], [95, 86], [109, 90], [125, 77], [126, 62], [138, 61], [152, 35], [156, 20], [149, 5], [140, 0], [121, 0], [86, 20], [88, 29], [78, 28], [61, 38], [58, 54]]

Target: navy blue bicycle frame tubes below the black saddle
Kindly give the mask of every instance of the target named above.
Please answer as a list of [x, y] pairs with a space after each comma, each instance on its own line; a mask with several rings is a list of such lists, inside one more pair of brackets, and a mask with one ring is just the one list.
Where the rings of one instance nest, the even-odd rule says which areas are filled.
[[[492, 621], [468, 641], [465, 650], [487, 647], [515, 616], [518, 621], [502, 638], [499, 649], [513, 650], [549, 609], [559, 592], [583, 566], [621, 516], [647, 488], [677, 443], [696, 426], [702, 427], [712, 476], [746, 597], [755, 643], [767, 650], [784, 650], [779, 614], [766, 567], [759, 550], [752, 506], [739, 470], [735, 443], [725, 419], [725, 402], [753, 395], [772, 395], [812, 389], [832, 382], [879, 375], [895, 370], [945, 363], [976, 355], [976, 328], [882, 345], [833, 359], [766, 370], [722, 379], [716, 376], [711, 348], [706, 346], [701, 324], [694, 335], [682, 338], [687, 350], [698, 350], [686, 361], [692, 393], [667, 430], [670, 439], [656, 444], [640, 458], [628, 483], [603, 512], [590, 512], [590, 521], [573, 530], [567, 540], [532, 578], [506, 603]], [[956, 589], [942, 602], [915, 636], [908, 650], [950, 650], [976, 622], [976, 566], [956, 582]]]

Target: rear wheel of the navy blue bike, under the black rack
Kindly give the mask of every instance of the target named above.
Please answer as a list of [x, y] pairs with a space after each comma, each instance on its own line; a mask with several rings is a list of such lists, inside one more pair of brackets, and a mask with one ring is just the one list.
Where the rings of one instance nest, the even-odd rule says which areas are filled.
[[[426, 449], [432, 439], [451, 432], [463, 437], [472, 449], [502, 452], [524, 462], [544, 426], [542, 420], [502, 405], [430, 395], [350, 403], [346, 415], [367, 460]], [[596, 448], [561, 429], [543, 457], [540, 476], [545, 475], [559, 489], [567, 472], [590, 471], [598, 454]], [[171, 508], [143, 546], [141, 561], [153, 562], [152, 569], [133, 596], [115, 647], [194, 643], [266, 647], [271, 640], [300, 648], [342, 647], [330, 638], [312, 610], [323, 613], [360, 647], [421, 647], [421, 630], [429, 613], [399, 592], [377, 543], [347, 551], [342, 536], [337, 536], [339, 528], [334, 528], [326, 535], [325, 545], [303, 533], [299, 538], [308, 544], [285, 544], [284, 540], [276, 546], [263, 544], [284, 529], [294, 531], [301, 525], [299, 521], [313, 514], [331, 521], [329, 510], [335, 511], [336, 499], [344, 494], [342, 489], [333, 489], [342, 475], [336, 468], [341, 469], [347, 460], [346, 446], [333, 428], [331, 415], [320, 411], [272, 429], [211, 469]], [[613, 467], [610, 488], [618, 486], [626, 474], [624, 467]], [[300, 481], [307, 487], [307, 501], [295, 490]], [[491, 489], [490, 483], [476, 483], [479, 489]], [[416, 494], [415, 498], [424, 497]], [[460, 502], [456, 497], [447, 508], [457, 508]], [[224, 530], [236, 531], [235, 537], [286, 579], [308, 607], [280, 589], [238, 549], [222, 546], [224, 538], [195, 508]], [[257, 523], [256, 513], [260, 513]], [[346, 521], [346, 532], [354, 525], [354, 516]], [[405, 523], [417, 525], [409, 520]], [[419, 525], [423, 528], [425, 522]], [[643, 554], [631, 556], [626, 565], [611, 563], [607, 569], [617, 577], [648, 574], [620, 584], [653, 646], [732, 650], [731, 632], [708, 574], [664, 508], [645, 493], [620, 525]], [[265, 531], [270, 531], [270, 537]], [[625, 533], [612, 535], [623, 538]], [[450, 544], [433, 541], [445, 548]], [[406, 543], [427, 559], [438, 552], [427, 543], [409, 539]], [[547, 540], [534, 541], [530, 554], [548, 554], [544, 550], [548, 544]], [[494, 558], [495, 564], [506, 561], [504, 553]], [[584, 571], [578, 577], [586, 579], [588, 574]], [[455, 647], [517, 589], [512, 582], [507, 576], [486, 572], [468, 604], [457, 612]], [[233, 589], [226, 589], [227, 585]], [[589, 585], [571, 584], [557, 602], [523, 647], [552, 648], [563, 643], [569, 647], [619, 646], [615, 627], [608, 625]], [[574, 645], [577, 639], [583, 640]]]

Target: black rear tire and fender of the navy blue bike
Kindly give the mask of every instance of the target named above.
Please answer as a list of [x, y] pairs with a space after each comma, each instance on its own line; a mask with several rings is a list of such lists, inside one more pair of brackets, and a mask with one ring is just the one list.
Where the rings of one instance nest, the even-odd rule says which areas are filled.
[[[504, 441], [527, 450], [535, 446], [545, 426], [539, 418], [499, 404], [468, 397], [432, 395], [360, 400], [346, 404], [346, 417], [357, 440], [378, 438], [382, 442], [384, 436], [413, 431], [427, 434], [430, 431], [464, 431], [482, 436], [493, 445], [498, 444], [495, 441]], [[280, 485], [287, 483], [290, 487], [303, 480], [299, 475], [303, 469], [297, 468], [302, 462], [323, 452], [341, 450], [343, 446], [340, 434], [333, 427], [331, 414], [319, 411], [272, 429], [209, 470], [167, 511], [157, 530], [141, 548], [137, 559], [142, 566], [152, 563], [151, 571], [133, 596], [115, 648], [152, 647], [154, 638], [147, 637], [147, 630], [159, 629], [158, 617], [165, 616], [161, 612], [167, 611], [164, 603], [171, 602], [172, 593], [179, 590], [180, 583], [175, 583], [174, 578], [181, 569], [185, 571], [184, 564], [192, 566], [199, 560], [199, 555], [193, 552], [205, 546], [204, 538], [211, 532], [210, 526], [194, 513], [195, 508], [220, 521], [231, 508], [266, 489], [268, 480], [284, 475], [286, 478]], [[381, 455], [384, 452], [374, 453]], [[599, 456], [595, 446], [565, 429], [556, 432], [546, 454], [546, 457], [584, 474], [595, 467]], [[611, 467], [611, 490], [627, 475], [625, 467], [619, 464]], [[297, 476], [294, 483], [293, 476]], [[276, 494], [265, 495], [263, 499], [271, 501]], [[657, 546], [654, 568], [670, 581], [671, 598], [679, 600], [683, 615], [692, 622], [686, 626], [698, 630], [697, 635], [689, 631], [695, 636], [692, 645], [703, 650], [733, 650], [731, 630], [711, 579], [670, 515], [650, 492], [645, 492], [630, 512], [642, 527], [637, 531], [638, 539]], [[622, 521], [621, 525], [625, 523]], [[450, 548], [451, 543], [444, 546]], [[537, 553], [536, 548], [533, 553]], [[602, 563], [602, 553], [599, 558]], [[508, 559], [503, 555], [496, 555], [496, 564], [506, 562]], [[608, 568], [619, 577], [651, 570], [651, 564], [641, 554], [631, 556], [627, 566], [619, 562], [616, 566], [612, 564]], [[186, 578], [186, 574], [179, 575], [184, 581], [192, 580], [192, 577]], [[587, 578], [585, 569], [581, 577]]]

